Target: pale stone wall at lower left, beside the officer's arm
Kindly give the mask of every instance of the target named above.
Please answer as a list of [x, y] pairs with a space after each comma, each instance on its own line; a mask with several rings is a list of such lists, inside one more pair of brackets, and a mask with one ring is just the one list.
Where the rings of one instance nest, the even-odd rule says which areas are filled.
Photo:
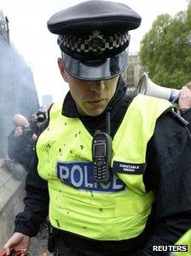
[[23, 209], [26, 170], [5, 160], [0, 168], [0, 248], [14, 232], [14, 217]]

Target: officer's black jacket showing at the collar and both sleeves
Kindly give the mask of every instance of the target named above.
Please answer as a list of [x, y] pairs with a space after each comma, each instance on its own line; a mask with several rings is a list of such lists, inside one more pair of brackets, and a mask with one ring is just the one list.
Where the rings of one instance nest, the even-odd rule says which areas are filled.
[[[132, 99], [124, 92], [124, 81], [120, 79], [107, 110], [96, 117], [80, 116], [68, 92], [62, 114], [71, 118], [78, 117], [90, 133], [94, 134], [96, 129], [105, 130], [105, 114], [109, 111], [113, 137]], [[172, 245], [191, 227], [191, 139], [187, 128], [171, 111], [166, 111], [159, 117], [153, 137], [148, 142], [146, 159], [147, 168], [143, 181], [147, 190], [153, 190], [156, 195], [152, 214], [141, 235], [127, 241], [112, 241], [112, 244], [116, 252], [120, 252], [121, 247], [126, 247], [130, 252], [142, 248], [140, 255], [145, 256], [168, 255], [154, 253], [153, 245]], [[26, 179], [25, 211], [15, 219], [15, 231], [30, 236], [37, 235], [39, 224], [48, 215], [49, 208], [47, 182], [38, 176], [37, 162], [33, 164]], [[74, 235], [74, 239], [78, 241], [78, 235]], [[87, 240], [86, 243], [88, 247], [91, 241]], [[110, 241], [102, 243], [106, 250], [110, 249]]]

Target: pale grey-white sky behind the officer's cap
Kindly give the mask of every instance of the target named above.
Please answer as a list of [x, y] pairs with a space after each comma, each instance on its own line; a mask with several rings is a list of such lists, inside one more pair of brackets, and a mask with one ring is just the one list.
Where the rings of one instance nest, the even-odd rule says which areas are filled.
[[[93, 0], [92, 0], [93, 1]], [[10, 39], [26, 63], [32, 67], [34, 80], [41, 100], [43, 94], [52, 94], [54, 100], [63, 97], [67, 84], [61, 79], [57, 68], [60, 56], [56, 36], [49, 33], [47, 21], [55, 12], [79, 0], [0, 0], [0, 9], [9, 18]], [[142, 25], [131, 32], [130, 52], [139, 51], [140, 41], [147, 33], [157, 15], [175, 15], [188, 6], [186, 0], [116, 0], [125, 3], [142, 16]]]

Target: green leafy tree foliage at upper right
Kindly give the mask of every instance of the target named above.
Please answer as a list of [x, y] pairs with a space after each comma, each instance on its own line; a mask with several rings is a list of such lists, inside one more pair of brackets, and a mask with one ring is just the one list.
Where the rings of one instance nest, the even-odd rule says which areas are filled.
[[180, 88], [191, 80], [191, 6], [159, 15], [142, 39], [142, 66], [158, 85]]

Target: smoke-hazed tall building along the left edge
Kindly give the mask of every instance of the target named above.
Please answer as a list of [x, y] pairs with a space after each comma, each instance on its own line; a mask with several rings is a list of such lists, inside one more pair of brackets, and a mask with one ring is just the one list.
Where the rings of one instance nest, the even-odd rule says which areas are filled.
[[14, 114], [29, 118], [38, 108], [32, 70], [10, 44], [9, 21], [0, 10], [0, 158], [7, 154]]

